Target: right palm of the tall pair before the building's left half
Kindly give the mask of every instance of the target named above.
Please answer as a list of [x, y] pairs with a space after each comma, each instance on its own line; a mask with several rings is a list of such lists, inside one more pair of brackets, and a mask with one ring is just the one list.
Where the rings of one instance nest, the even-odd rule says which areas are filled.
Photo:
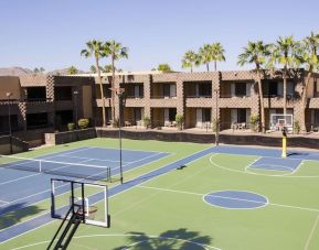
[[[121, 43], [118, 43], [114, 40], [105, 42], [103, 45], [103, 54], [105, 56], [110, 56], [111, 62], [111, 88], [115, 87], [115, 61], [119, 58], [127, 58], [128, 57], [128, 48], [121, 46]], [[115, 93], [111, 91], [111, 112], [113, 119], [115, 119]]]

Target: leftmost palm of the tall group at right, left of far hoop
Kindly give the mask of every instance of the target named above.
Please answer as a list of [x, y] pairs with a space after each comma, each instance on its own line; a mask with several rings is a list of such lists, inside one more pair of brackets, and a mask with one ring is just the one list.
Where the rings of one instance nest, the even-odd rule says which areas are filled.
[[258, 95], [260, 102], [260, 117], [262, 117], [262, 132], [265, 133], [265, 109], [262, 88], [262, 69], [266, 62], [266, 57], [270, 55], [269, 44], [264, 44], [263, 41], [248, 42], [248, 45], [244, 47], [244, 52], [238, 55], [237, 64], [244, 66], [245, 64], [255, 65], [255, 74], [258, 81]]

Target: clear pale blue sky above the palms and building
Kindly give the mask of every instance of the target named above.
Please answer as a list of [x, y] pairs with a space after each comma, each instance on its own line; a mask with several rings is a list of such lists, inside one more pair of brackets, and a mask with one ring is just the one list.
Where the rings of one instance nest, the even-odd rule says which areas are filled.
[[212, 42], [226, 51], [219, 69], [241, 69], [237, 55], [248, 41], [319, 32], [318, 0], [1, 0], [0, 13], [0, 67], [47, 70], [87, 70], [94, 61], [79, 52], [92, 39], [129, 47], [129, 58], [117, 63], [125, 70], [160, 63], [183, 70], [184, 52]]

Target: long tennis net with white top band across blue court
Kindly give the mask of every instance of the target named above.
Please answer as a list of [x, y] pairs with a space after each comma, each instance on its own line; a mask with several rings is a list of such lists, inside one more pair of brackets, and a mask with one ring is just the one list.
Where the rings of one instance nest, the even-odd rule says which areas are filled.
[[109, 166], [25, 159], [12, 155], [0, 155], [0, 167], [93, 181], [105, 180], [107, 182], [110, 181], [111, 175]]

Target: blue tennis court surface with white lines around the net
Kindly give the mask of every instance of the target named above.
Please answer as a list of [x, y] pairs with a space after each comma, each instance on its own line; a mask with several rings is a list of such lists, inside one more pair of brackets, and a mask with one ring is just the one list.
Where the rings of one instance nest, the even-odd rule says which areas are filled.
[[[163, 152], [123, 150], [123, 170], [126, 172], [168, 155]], [[35, 160], [19, 160], [0, 167], [0, 215], [49, 198], [52, 177], [62, 175], [78, 180], [95, 176], [104, 180], [107, 167], [110, 167], [113, 177], [119, 174], [119, 151], [116, 149], [77, 148]], [[40, 164], [45, 174], [38, 172]]]

